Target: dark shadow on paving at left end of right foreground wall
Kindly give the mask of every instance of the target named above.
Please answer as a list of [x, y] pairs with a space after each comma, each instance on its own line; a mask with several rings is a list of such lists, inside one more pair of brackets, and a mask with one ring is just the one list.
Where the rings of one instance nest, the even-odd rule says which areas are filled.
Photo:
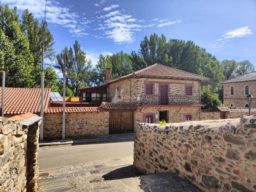
[[134, 165], [117, 168], [114, 171], [110, 171], [106, 175], [103, 175], [104, 180], [121, 180], [124, 178], [130, 178], [135, 176], [144, 175]]

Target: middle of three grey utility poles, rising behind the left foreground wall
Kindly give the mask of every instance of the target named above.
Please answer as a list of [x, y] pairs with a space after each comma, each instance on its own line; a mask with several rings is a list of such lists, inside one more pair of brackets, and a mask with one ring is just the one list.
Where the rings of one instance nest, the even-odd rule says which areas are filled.
[[41, 125], [40, 125], [40, 141], [43, 141], [43, 94], [45, 89], [45, 79], [44, 79], [44, 59], [45, 59], [45, 47], [42, 45], [42, 65], [41, 65], [41, 110], [40, 116], [42, 117]]

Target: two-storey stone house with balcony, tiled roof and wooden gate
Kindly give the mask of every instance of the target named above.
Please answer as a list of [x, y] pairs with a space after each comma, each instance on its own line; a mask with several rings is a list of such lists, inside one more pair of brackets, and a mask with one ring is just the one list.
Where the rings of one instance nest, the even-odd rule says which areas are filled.
[[109, 133], [133, 132], [138, 122], [199, 120], [203, 76], [156, 63], [104, 85], [81, 88], [81, 103], [99, 104], [109, 111]]

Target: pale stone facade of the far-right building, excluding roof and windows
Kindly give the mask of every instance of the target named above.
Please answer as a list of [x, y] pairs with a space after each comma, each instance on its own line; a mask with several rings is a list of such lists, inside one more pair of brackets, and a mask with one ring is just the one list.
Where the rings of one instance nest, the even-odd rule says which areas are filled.
[[[234, 104], [236, 107], [245, 107], [246, 96], [245, 96], [245, 86], [249, 86], [249, 93], [256, 95], [255, 81], [244, 81], [237, 83], [224, 83], [223, 85], [223, 98], [224, 104], [231, 105]], [[234, 88], [234, 95], [231, 95], [231, 87]], [[256, 101], [252, 103], [252, 107], [256, 107]]]

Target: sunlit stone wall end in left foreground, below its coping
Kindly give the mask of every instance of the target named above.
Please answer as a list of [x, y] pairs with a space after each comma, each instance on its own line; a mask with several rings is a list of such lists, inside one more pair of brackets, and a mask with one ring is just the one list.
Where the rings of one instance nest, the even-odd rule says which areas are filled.
[[39, 124], [0, 117], [0, 191], [38, 190]]

